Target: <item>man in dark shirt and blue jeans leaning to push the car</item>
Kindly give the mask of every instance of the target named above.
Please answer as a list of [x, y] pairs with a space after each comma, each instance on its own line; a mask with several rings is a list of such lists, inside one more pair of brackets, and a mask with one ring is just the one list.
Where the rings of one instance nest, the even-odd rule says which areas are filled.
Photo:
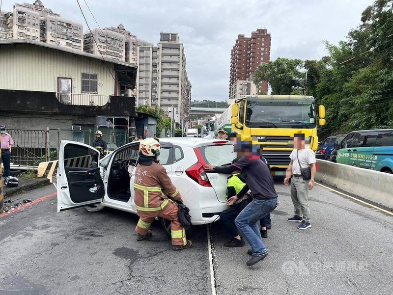
[[[229, 174], [240, 170], [246, 184], [253, 194], [253, 201], [248, 204], [236, 217], [235, 224], [242, 236], [248, 241], [251, 250], [247, 251], [252, 258], [247, 261], [247, 266], [253, 266], [268, 255], [268, 250], [262, 242], [261, 233], [258, 228], [258, 220], [270, 214], [278, 205], [278, 195], [274, 188], [273, 177], [269, 167], [260, 159], [258, 147], [253, 147], [252, 141], [234, 141], [234, 147], [239, 161], [230, 166], [216, 167], [206, 165], [206, 171]], [[254, 151], [255, 149], [255, 151]], [[235, 203], [237, 197], [228, 200]]]

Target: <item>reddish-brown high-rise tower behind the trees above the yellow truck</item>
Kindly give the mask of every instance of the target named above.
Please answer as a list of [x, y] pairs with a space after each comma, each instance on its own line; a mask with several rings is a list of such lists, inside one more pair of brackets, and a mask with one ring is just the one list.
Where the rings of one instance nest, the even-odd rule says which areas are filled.
[[[252, 80], [253, 75], [263, 62], [270, 60], [271, 36], [267, 29], [258, 28], [251, 37], [238, 35], [231, 50], [229, 98], [232, 98], [232, 86], [238, 80]], [[267, 92], [267, 83], [262, 82], [262, 91]]]

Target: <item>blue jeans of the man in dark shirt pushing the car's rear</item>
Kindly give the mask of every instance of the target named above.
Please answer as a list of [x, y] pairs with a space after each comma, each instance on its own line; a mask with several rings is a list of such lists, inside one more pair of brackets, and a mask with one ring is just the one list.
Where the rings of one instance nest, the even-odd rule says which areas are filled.
[[270, 200], [253, 199], [235, 219], [237, 229], [250, 244], [253, 256], [260, 256], [267, 251], [262, 242], [257, 222], [271, 213], [276, 207], [277, 198]]

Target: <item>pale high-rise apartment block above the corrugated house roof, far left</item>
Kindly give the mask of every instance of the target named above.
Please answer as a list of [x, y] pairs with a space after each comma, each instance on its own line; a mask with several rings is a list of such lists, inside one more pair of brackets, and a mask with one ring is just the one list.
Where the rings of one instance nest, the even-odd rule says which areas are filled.
[[0, 40], [28, 39], [83, 51], [83, 25], [64, 19], [40, 0], [0, 13]]

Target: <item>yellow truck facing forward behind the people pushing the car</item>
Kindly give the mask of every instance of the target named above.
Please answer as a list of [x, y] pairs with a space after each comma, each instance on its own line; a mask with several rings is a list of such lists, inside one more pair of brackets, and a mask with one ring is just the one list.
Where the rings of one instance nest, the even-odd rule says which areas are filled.
[[[230, 125], [228, 120], [230, 114]], [[226, 127], [253, 138], [263, 148], [262, 155], [269, 162], [272, 174], [284, 176], [293, 150], [293, 135], [305, 134], [306, 145], [318, 148], [317, 113], [315, 99], [307, 95], [253, 95], [245, 96], [228, 107], [222, 119]], [[325, 107], [318, 108], [318, 124], [323, 126]], [[217, 120], [220, 121], [220, 118]], [[216, 122], [216, 129], [221, 128]]]

